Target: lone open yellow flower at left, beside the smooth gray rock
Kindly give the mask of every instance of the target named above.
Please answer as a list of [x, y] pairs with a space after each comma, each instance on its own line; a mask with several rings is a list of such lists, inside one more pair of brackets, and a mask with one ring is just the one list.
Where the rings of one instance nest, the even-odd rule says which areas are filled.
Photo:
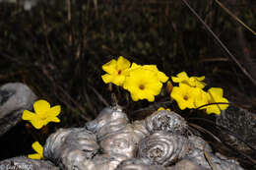
[[37, 100], [33, 103], [33, 110], [35, 113], [25, 110], [23, 120], [30, 121], [36, 129], [40, 129], [49, 122], [60, 122], [57, 118], [61, 110], [60, 105], [50, 107], [46, 100]]

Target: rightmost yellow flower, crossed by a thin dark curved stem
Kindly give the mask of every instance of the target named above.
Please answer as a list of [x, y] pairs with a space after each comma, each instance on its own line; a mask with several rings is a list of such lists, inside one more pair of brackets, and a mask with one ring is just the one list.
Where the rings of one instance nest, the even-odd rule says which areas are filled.
[[[208, 90], [208, 103], [216, 103], [216, 102], [224, 102], [228, 103], [228, 100], [223, 97], [224, 89], [220, 87], [211, 87]], [[206, 109], [206, 113], [211, 114], [221, 114], [221, 110], [225, 110], [228, 107], [228, 104], [211, 104], [208, 106], [204, 106], [200, 109]]]

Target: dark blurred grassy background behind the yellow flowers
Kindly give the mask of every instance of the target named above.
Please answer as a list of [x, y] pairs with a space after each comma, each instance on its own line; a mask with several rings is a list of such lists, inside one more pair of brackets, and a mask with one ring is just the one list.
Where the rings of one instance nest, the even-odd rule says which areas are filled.
[[[255, 85], [182, 0], [3, 1], [0, 85], [29, 85], [39, 98], [62, 106], [62, 122], [39, 133], [22, 122], [0, 140], [1, 159], [32, 153], [31, 134], [40, 134], [43, 143], [60, 127], [84, 126], [116, 101], [132, 119], [140, 110], [144, 110], [141, 115], [148, 114], [142, 108], [168, 106], [170, 99], [164, 92], [154, 103], [134, 103], [123, 89], [104, 85], [101, 66], [118, 56], [137, 64], [156, 64], [168, 77], [182, 71], [206, 76], [209, 87], [224, 88], [228, 100], [255, 111]], [[256, 80], [256, 35], [216, 0], [187, 2]], [[256, 29], [255, 0], [221, 2]]]

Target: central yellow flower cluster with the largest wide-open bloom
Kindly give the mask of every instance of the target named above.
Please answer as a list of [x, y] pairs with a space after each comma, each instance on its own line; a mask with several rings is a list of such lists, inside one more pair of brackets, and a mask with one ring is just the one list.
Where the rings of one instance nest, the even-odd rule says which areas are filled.
[[155, 96], [160, 93], [162, 83], [168, 80], [168, 77], [160, 72], [156, 65], [131, 64], [122, 56], [104, 64], [102, 69], [106, 72], [101, 77], [103, 82], [127, 89], [134, 101], [139, 99], [154, 101]]

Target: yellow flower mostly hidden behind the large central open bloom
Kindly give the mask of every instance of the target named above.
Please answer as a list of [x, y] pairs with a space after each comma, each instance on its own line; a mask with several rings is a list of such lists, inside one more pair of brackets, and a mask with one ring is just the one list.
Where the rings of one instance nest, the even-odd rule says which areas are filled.
[[138, 65], [136, 63], [133, 63], [130, 70], [134, 70], [134, 69], [138, 69], [138, 68], [142, 68], [142, 69], [146, 69], [146, 70], [151, 70], [154, 71], [158, 74], [158, 77], [160, 79], [161, 83], [165, 83], [168, 80], [168, 77], [166, 77], [166, 75], [162, 72], [159, 71], [158, 67], [156, 65]]

